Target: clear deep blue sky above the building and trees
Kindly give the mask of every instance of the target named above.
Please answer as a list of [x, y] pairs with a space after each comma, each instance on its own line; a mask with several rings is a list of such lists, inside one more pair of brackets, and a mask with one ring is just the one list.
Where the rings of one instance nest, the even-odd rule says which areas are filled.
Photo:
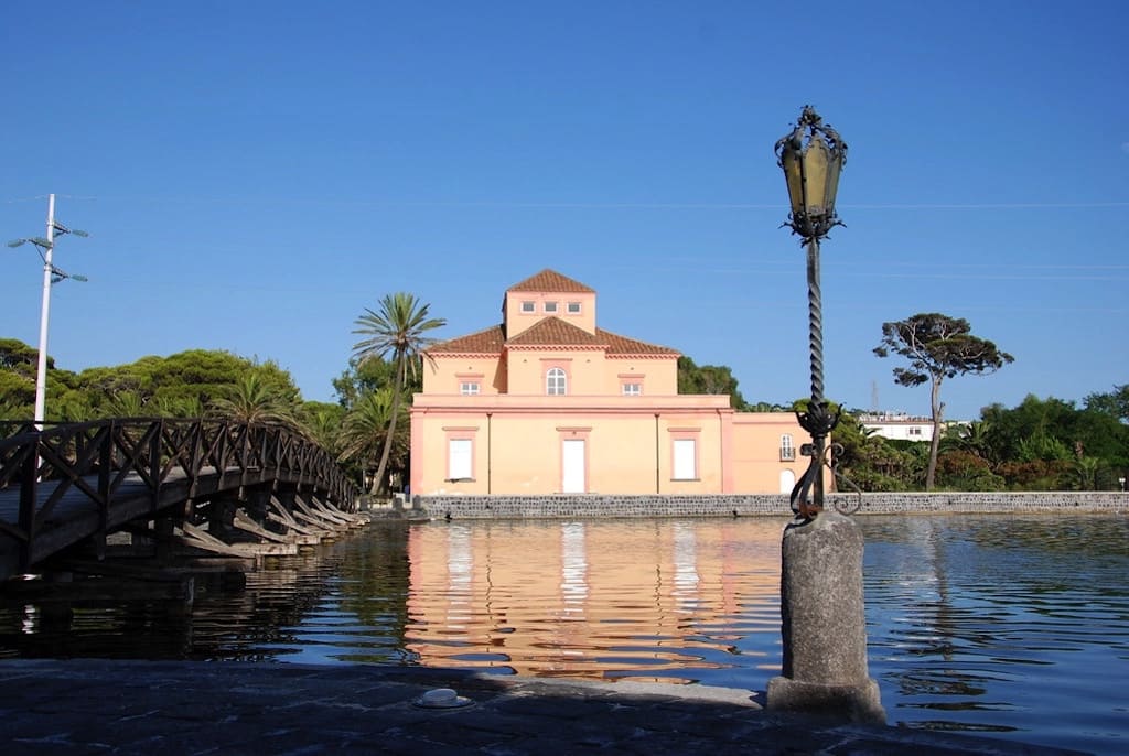
[[[43, 236], [70, 370], [187, 349], [334, 401], [391, 292], [464, 335], [545, 267], [599, 325], [750, 402], [808, 393], [804, 250], [773, 155], [806, 104], [849, 146], [822, 245], [825, 393], [929, 413], [882, 324], [966, 318], [1015, 357], [945, 414], [1129, 383], [1129, 3], [0, 3], [0, 241]], [[42, 263], [0, 247], [0, 337]], [[50, 415], [50, 407], [49, 407]]]

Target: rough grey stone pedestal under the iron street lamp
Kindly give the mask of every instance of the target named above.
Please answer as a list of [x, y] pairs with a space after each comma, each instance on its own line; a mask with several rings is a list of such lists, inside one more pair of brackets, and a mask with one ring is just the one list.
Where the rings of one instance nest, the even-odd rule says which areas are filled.
[[781, 559], [784, 674], [769, 680], [769, 710], [885, 723], [867, 674], [858, 525], [833, 511], [791, 524]]

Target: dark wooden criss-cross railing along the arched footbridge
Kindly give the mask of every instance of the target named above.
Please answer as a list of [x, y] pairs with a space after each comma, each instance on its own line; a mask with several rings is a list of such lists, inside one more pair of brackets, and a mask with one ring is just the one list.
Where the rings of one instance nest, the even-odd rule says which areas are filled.
[[238, 485], [282, 480], [322, 491], [352, 509], [359, 491], [329, 452], [281, 427], [224, 420], [130, 417], [85, 423], [5, 423], [0, 428], [0, 492], [19, 491], [18, 515], [0, 512], [0, 534], [14, 538], [28, 561], [36, 534], [60, 502], [94, 502], [99, 531], [122, 485], [138, 496], [140, 480], [152, 500], [175, 480], [193, 498], [202, 476], [219, 475]]

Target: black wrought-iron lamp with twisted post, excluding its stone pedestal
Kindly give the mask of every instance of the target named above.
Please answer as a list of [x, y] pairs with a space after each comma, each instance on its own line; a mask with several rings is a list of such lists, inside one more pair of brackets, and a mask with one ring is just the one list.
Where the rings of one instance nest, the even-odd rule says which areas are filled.
[[823, 398], [823, 306], [820, 293], [820, 239], [842, 226], [835, 214], [839, 173], [847, 161], [847, 144], [824, 124], [811, 105], [804, 107], [796, 128], [776, 143], [777, 161], [788, 184], [791, 212], [784, 226], [807, 245], [808, 342], [812, 358], [812, 401], [807, 412], [797, 412], [812, 443], [800, 452], [812, 463], [791, 491], [791, 511], [809, 520], [823, 511], [823, 465], [828, 436], [839, 422]]

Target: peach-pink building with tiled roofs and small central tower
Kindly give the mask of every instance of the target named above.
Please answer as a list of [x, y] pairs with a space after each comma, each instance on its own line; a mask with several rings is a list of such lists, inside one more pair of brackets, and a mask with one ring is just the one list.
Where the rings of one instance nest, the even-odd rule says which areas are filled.
[[790, 491], [806, 434], [677, 390], [679, 353], [596, 325], [595, 290], [544, 270], [502, 322], [432, 345], [411, 408], [418, 494]]

